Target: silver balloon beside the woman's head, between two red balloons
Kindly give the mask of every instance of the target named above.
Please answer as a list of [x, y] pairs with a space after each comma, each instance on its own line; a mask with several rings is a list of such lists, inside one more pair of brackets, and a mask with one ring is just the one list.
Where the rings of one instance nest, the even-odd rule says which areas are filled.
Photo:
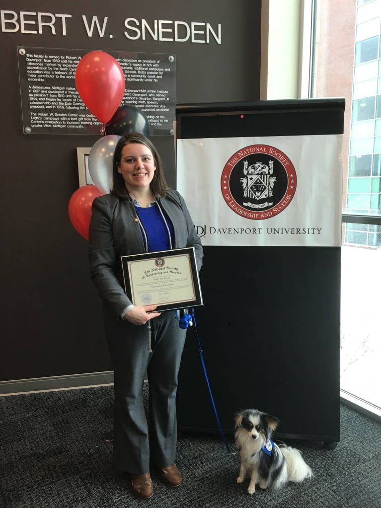
[[117, 142], [121, 136], [110, 134], [99, 139], [88, 154], [88, 171], [94, 185], [103, 194], [112, 188], [112, 163]]

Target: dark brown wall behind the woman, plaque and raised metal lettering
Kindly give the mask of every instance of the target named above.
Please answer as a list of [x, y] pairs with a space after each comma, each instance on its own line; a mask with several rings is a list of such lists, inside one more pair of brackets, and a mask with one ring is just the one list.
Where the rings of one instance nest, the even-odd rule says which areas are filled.
[[[68, 216], [78, 188], [76, 147], [99, 137], [23, 134], [16, 47], [174, 53], [178, 103], [258, 100], [261, 2], [7, 0], [1, 9], [72, 18], [67, 36], [0, 32], [0, 380], [111, 370], [87, 242]], [[113, 38], [87, 37], [82, 14], [108, 16]], [[126, 17], [220, 23], [222, 43], [130, 41]], [[153, 142], [175, 186], [173, 139]]]

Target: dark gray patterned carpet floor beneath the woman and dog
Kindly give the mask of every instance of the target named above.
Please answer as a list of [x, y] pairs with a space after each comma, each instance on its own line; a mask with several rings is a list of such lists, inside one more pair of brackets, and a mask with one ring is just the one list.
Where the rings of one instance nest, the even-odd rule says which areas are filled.
[[113, 468], [112, 410], [110, 386], [0, 397], [1, 508], [381, 508], [381, 423], [344, 405], [335, 450], [287, 442], [303, 453], [311, 480], [250, 496], [219, 435], [183, 435], [183, 484], [168, 488], [151, 471], [154, 495], [144, 501]]

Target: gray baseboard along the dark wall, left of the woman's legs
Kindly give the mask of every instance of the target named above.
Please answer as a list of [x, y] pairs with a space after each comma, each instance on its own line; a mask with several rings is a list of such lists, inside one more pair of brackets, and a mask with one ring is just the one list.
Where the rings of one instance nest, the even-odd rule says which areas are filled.
[[89, 372], [66, 376], [36, 377], [0, 382], [0, 396], [17, 395], [31, 392], [51, 392], [56, 390], [74, 390], [114, 384], [114, 373]]

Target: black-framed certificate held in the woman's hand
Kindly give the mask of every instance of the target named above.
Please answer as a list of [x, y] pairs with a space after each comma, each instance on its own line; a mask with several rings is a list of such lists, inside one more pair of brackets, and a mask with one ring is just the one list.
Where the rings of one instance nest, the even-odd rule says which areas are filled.
[[194, 247], [121, 256], [125, 294], [157, 311], [203, 305]]

